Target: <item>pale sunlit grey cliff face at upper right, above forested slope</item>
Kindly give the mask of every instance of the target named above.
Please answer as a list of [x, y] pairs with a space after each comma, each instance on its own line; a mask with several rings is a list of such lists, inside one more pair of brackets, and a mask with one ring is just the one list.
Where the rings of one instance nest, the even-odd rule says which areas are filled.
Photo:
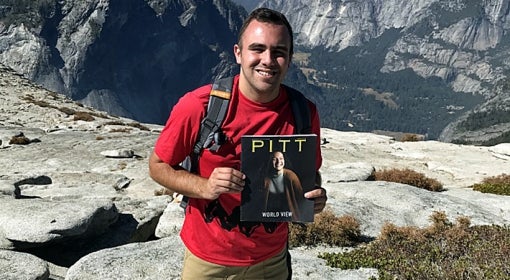
[[[341, 53], [399, 30], [398, 38], [380, 54], [385, 57], [380, 72], [411, 69], [425, 78], [439, 77], [457, 92], [484, 96], [487, 102], [476, 111], [510, 110], [510, 91], [495, 87], [510, 70], [508, 0], [265, 0], [260, 6], [288, 14], [297, 42], [309, 48], [324, 46]], [[465, 129], [457, 127], [459, 121], [441, 138], [480, 142], [484, 137], [472, 136], [488, 131], [496, 132], [491, 137], [501, 135], [510, 128], [509, 122], [461, 133]]]

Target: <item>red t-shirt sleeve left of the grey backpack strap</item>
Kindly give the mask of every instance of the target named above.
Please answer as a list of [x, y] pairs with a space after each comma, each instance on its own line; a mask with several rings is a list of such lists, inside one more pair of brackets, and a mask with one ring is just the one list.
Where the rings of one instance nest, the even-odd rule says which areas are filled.
[[209, 91], [210, 86], [204, 86], [186, 93], [172, 108], [154, 147], [162, 161], [177, 165], [192, 152], [205, 115]]

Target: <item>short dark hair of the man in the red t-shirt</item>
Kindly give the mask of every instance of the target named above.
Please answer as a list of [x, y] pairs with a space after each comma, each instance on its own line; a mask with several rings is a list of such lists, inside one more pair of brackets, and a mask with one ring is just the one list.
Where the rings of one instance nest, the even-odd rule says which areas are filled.
[[239, 45], [241, 45], [241, 38], [243, 37], [244, 31], [246, 31], [246, 28], [253, 20], [272, 23], [276, 25], [284, 25], [285, 27], [287, 27], [287, 30], [289, 31], [290, 35], [289, 53], [290, 55], [294, 53], [294, 33], [292, 32], [292, 27], [290, 26], [289, 21], [282, 13], [268, 8], [255, 9], [250, 13], [248, 18], [246, 18], [243, 25], [241, 26], [241, 30], [239, 30], [239, 36], [237, 38], [237, 42]]

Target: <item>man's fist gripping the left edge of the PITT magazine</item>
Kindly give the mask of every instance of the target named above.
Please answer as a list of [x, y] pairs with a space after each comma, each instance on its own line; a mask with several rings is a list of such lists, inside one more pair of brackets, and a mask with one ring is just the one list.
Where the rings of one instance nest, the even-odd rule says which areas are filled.
[[201, 197], [216, 199], [222, 193], [240, 193], [244, 189], [246, 175], [239, 170], [230, 167], [216, 167], [205, 188], [200, 189]]

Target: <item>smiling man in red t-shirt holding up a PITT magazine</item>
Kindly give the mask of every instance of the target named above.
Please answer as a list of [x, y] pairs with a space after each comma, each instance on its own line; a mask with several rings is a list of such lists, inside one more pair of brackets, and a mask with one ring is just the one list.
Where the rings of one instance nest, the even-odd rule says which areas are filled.
[[[294, 118], [281, 85], [293, 53], [292, 29], [280, 13], [261, 8], [243, 24], [234, 45], [240, 74], [234, 79], [222, 125], [226, 141], [204, 149], [198, 174], [178, 168], [199, 135], [211, 85], [184, 95], [174, 106], [149, 159], [151, 177], [188, 196], [181, 230], [186, 246], [183, 279], [286, 279], [287, 223], [241, 223], [239, 206], [245, 175], [239, 170], [242, 135], [293, 134]], [[312, 131], [320, 137], [319, 117], [309, 102]], [[322, 158], [317, 144], [319, 170]], [[306, 193], [322, 211], [327, 197], [319, 188]]]

